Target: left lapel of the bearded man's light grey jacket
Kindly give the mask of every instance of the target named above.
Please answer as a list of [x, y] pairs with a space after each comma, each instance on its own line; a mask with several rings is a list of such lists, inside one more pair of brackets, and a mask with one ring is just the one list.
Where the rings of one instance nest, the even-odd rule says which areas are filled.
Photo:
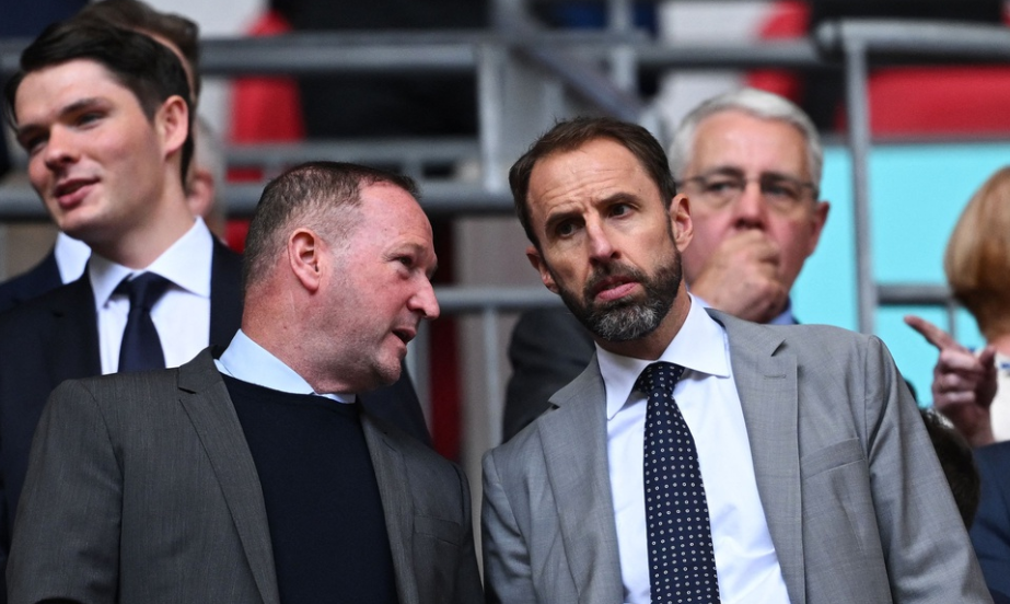
[[552, 397], [537, 432], [580, 602], [620, 602], [623, 582], [606, 453], [606, 405], [595, 356]]

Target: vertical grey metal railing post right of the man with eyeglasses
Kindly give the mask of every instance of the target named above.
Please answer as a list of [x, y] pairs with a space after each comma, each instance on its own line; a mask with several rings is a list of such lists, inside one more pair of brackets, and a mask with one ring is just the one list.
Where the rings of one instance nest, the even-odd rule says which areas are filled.
[[861, 42], [843, 42], [849, 150], [852, 155], [857, 310], [859, 330], [872, 334], [877, 312], [877, 284], [873, 280], [870, 232], [870, 103], [867, 95], [867, 50]]

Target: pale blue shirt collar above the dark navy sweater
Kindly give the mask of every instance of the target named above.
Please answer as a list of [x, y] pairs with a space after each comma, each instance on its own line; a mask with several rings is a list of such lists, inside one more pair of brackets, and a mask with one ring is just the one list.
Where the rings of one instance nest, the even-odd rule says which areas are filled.
[[291, 394], [314, 394], [339, 403], [355, 402], [355, 396], [351, 394], [320, 394], [313, 391], [304, 378], [266, 348], [253, 341], [242, 329], [239, 329], [214, 364], [225, 375], [265, 388]]

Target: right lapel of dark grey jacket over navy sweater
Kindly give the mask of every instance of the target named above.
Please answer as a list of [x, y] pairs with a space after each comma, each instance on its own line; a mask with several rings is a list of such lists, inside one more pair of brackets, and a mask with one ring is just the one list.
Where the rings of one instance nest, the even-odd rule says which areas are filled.
[[[396, 572], [396, 594], [400, 604], [420, 602], [414, 576], [414, 501], [404, 486], [409, 485], [400, 452], [368, 414], [361, 414], [361, 428], [368, 443]], [[436, 596], [437, 597], [437, 596]]]

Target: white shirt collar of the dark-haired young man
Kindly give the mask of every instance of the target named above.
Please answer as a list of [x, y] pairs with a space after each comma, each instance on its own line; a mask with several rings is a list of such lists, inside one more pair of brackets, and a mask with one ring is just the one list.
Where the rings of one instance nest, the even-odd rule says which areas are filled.
[[95, 307], [105, 306], [112, 298], [116, 286], [131, 274], [154, 272], [172, 281], [194, 295], [210, 298], [210, 262], [205, 258], [213, 256], [213, 235], [197, 218], [193, 226], [175, 241], [150, 266], [135, 270], [98, 254], [92, 254], [88, 263], [88, 276], [95, 295]]

